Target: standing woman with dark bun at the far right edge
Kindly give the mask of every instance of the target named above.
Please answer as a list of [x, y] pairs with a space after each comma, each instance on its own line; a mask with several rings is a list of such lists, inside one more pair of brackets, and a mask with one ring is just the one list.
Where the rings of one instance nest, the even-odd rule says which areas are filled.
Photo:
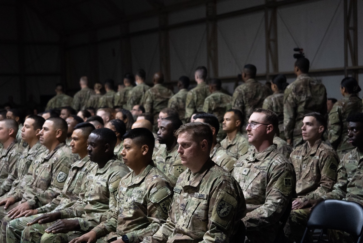
[[354, 77], [345, 77], [340, 83], [343, 99], [337, 101], [329, 113], [329, 142], [337, 150], [340, 159], [354, 149], [354, 146], [348, 142], [346, 119], [351, 113], [362, 112], [362, 100], [358, 97], [360, 90]]

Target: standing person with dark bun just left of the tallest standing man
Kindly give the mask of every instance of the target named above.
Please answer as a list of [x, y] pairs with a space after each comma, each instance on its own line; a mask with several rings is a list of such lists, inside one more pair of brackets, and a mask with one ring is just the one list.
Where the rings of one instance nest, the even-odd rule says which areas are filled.
[[[269, 109], [276, 113], [278, 117], [278, 130], [280, 131], [280, 138], [285, 139], [284, 136], [284, 91], [289, 85], [286, 82], [286, 76], [279, 74], [272, 80], [271, 88], [272, 95], [269, 95], [264, 100], [262, 108]], [[288, 157], [287, 157], [288, 158]]]

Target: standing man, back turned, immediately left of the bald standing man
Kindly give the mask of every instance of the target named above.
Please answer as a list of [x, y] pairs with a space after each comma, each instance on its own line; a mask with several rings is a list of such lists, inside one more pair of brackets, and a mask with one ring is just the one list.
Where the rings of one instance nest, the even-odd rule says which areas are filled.
[[134, 105], [143, 105], [144, 94], [150, 87], [144, 83], [146, 73], [143, 69], [139, 69], [135, 74], [136, 86], [129, 91], [129, 100], [127, 107], [134, 107]]

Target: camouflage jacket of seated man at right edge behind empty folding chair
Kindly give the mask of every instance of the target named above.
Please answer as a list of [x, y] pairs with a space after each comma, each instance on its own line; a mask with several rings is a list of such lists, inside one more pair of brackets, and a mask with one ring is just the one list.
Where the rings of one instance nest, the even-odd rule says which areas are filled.
[[344, 155], [338, 166], [337, 183], [323, 199], [343, 199], [363, 205], [363, 153], [357, 148]]

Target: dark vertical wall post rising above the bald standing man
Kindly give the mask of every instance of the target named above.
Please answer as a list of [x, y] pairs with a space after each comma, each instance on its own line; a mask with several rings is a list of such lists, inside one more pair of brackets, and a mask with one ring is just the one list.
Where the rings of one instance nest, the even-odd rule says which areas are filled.
[[166, 82], [171, 81], [170, 73], [170, 42], [168, 28], [168, 13], [159, 15], [159, 49], [160, 49], [160, 69], [164, 73]]

